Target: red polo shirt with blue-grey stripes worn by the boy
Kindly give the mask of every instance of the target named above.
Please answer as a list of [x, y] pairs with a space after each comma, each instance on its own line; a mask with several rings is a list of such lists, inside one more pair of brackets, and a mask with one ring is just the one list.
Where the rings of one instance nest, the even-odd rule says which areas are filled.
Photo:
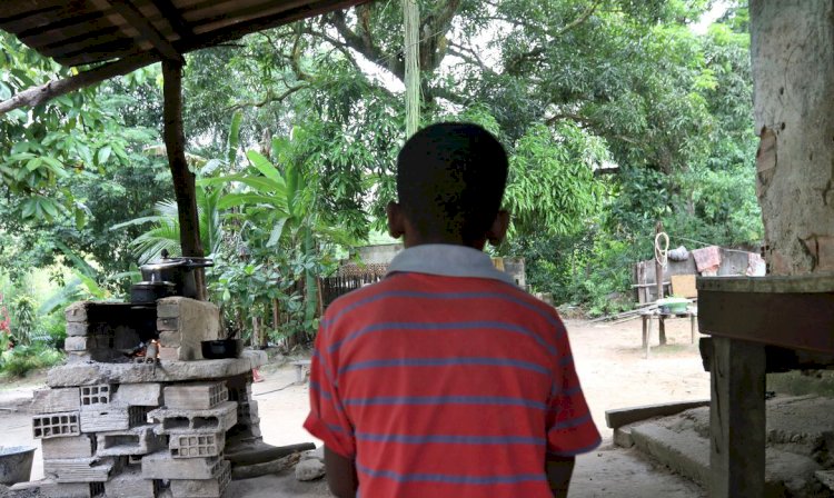
[[328, 308], [305, 428], [356, 460], [366, 498], [550, 497], [546, 452], [599, 444], [553, 307], [438, 245]]

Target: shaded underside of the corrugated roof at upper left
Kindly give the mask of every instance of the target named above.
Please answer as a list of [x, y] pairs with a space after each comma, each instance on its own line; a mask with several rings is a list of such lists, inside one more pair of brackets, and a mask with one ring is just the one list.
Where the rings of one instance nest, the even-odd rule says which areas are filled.
[[211, 47], [366, 0], [0, 0], [0, 29], [63, 66]]

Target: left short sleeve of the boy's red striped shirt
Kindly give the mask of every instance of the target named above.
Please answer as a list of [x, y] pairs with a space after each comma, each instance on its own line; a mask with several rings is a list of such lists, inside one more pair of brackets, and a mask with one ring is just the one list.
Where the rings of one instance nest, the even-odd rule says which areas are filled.
[[316, 336], [310, 362], [310, 412], [304, 428], [325, 441], [325, 446], [346, 458], [356, 457], [354, 427], [345, 412], [335, 381], [336, 368], [328, 355], [327, 329]]

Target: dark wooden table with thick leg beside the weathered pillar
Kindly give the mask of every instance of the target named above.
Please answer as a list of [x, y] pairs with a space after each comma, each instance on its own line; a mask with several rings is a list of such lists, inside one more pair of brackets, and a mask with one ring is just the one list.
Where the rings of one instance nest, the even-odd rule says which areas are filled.
[[[766, 346], [834, 360], [834, 275], [698, 278], [713, 498], [764, 496]], [[702, 339], [703, 340], [703, 339]]]

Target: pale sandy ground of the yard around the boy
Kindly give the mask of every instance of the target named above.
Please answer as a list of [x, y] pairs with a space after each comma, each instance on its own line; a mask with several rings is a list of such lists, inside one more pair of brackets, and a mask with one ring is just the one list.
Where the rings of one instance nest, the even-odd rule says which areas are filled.
[[[709, 376], [704, 372], [696, 343], [689, 342], [689, 321], [667, 323], [668, 345], [655, 347], [651, 359], [643, 358], [641, 322], [595, 325], [580, 320], [566, 322], [575, 362], [592, 415], [605, 442], [578, 458], [572, 484], [572, 498], [649, 497], [695, 498], [703, 490], [645, 459], [634, 450], [614, 449], [612, 431], [605, 425], [605, 410], [656, 402], [707, 399]], [[653, 343], [657, 345], [657, 332]], [[307, 387], [294, 385], [289, 366], [262, 369], [266, 381], [252, 389], [258, 401], [264, 440], [281, 446], [320, 441], [311, 438], [301, 424], [307, 414]], [[0, 428], [4, 446], [38, 447], [32, 479], [43, 476], [40, 444], [32, 440], [26, 405], [31, 391], [41, 387], [43, 376], [0, 387]], [[328, 497], [322, 481], [298, 482], [291, 472], [231, 484], [227, 496], [238, 498]]]

